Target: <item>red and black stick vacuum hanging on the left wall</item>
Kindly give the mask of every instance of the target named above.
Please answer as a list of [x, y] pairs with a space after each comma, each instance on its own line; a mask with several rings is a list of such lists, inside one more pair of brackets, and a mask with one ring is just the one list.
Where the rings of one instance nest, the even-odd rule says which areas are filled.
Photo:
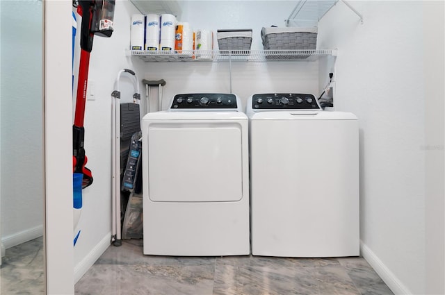
[[115, 0], [78, 1], [77, 13], [82, 17], [81, 23], [81, 57], [79, 61], [79, 78], [77, 81], [76, 112], [74, 114], [73, 134], [73, 173], [82, 173], [82, 188], [92, 184], [91, 170], [85, 167], [88, 158], [83, 149], [85, 130], [86, 90], [88, 85], [88, 68], [94, 35], [111, 37], [113, 33], [113, 16]]

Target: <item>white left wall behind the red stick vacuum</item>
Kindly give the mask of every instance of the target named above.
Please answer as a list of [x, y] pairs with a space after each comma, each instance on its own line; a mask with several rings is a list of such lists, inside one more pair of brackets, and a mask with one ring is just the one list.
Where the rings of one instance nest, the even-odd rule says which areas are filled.
[[[95, 100], [86, 102], [85, 151], [86, 167], [92, 170], [94, 181], [83, 189], [83, 208], [79, 228], [81, 235], [74, 247], [74, 280], [83, 276], [90, 265], [110, 245], [111, 240], [111, 92], [120, 69], [136, 71], [142, 80], [140, 62], [126, 56], [129, 49], [130, 17], [138, 10], [129, 1], [116, 1], [115, 31], [110, 38], [95, 36], [90, 55], [88, 80], [95, 83]], [[81, 17], [77, 18], [74, 72], [79, 69], [79, 33]], [[76, 88], [77, 74], [74, 79]], [[122, 78], [122, 96], [133, 92], [129, 78]], [[142, 85], [140, 86], [142, 87]], [[76, 90], [74, 89], [74, 93]], [[88, 90], [90, 92], [90, 90]], [[75, 102], [75, 101], [74, 101]]]

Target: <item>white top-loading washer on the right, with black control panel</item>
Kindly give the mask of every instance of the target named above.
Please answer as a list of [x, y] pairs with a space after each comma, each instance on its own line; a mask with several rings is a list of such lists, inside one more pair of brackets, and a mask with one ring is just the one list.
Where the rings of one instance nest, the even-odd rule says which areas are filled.
[[254, 94], [250, 119], [252, 255], [359, 255], [359, 128], [311, 94]]

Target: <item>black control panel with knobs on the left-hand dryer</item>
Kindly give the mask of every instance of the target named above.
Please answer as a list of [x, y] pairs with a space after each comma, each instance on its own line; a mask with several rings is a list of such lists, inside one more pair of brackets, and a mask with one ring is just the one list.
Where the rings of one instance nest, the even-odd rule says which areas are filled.
[[177, 94], [172, 109], [238, 108], [235, 94], [193, 93]]

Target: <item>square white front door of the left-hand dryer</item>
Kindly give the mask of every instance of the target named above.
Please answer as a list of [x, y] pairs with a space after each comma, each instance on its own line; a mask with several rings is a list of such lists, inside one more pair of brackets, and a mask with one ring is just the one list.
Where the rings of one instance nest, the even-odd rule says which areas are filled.
[[159, 202], [241, 200], [241, 134], [241, 125], [234, 121], [149, 124], [149, 199]]

